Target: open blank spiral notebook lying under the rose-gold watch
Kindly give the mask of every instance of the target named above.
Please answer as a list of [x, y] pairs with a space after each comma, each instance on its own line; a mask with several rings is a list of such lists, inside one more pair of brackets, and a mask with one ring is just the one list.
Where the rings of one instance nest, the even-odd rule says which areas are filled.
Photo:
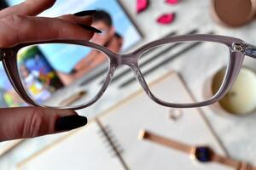
[[[161, 77], [150, 87], [171, 98], [184, 96], [193, 100], [176, 72]], [[170, 94], [166, 93], [166, 88], [172, 89]], [[17, 167], [20, 170], [230, 169], [215, 163], [201, 164], [177, 150], [138, 139], [139, 131], [146, 128], [186, 144], [207, 144], [224, 155], [199, 109], [180, 110], [182, 115], [176, 121], [170, 120], [170, 110], [155, 104], [139, 91], [104, 111], [86, 127], [67, 134], [20, 162]]]

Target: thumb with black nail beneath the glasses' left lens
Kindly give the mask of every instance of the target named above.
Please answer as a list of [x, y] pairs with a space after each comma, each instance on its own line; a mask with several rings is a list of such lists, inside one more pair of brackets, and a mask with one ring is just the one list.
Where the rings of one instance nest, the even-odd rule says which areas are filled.
[[35, 107], [0, 110], [0, 141], [26, 139], [82, 127], [84, 116], [74, 111]]

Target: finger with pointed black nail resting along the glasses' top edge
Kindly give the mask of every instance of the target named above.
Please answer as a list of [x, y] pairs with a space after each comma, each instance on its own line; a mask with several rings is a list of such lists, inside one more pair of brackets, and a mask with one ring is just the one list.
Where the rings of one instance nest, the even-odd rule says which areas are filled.
[[20, 42], [35, 42], [55, 39], [90, 40], [94, 32], [87, 27], [91, 17], [84, 17], [81, 25], [59, 18], [44, 18], [14, 15], [2, 20], [0, 26], [0, 47], [8, 48]]

